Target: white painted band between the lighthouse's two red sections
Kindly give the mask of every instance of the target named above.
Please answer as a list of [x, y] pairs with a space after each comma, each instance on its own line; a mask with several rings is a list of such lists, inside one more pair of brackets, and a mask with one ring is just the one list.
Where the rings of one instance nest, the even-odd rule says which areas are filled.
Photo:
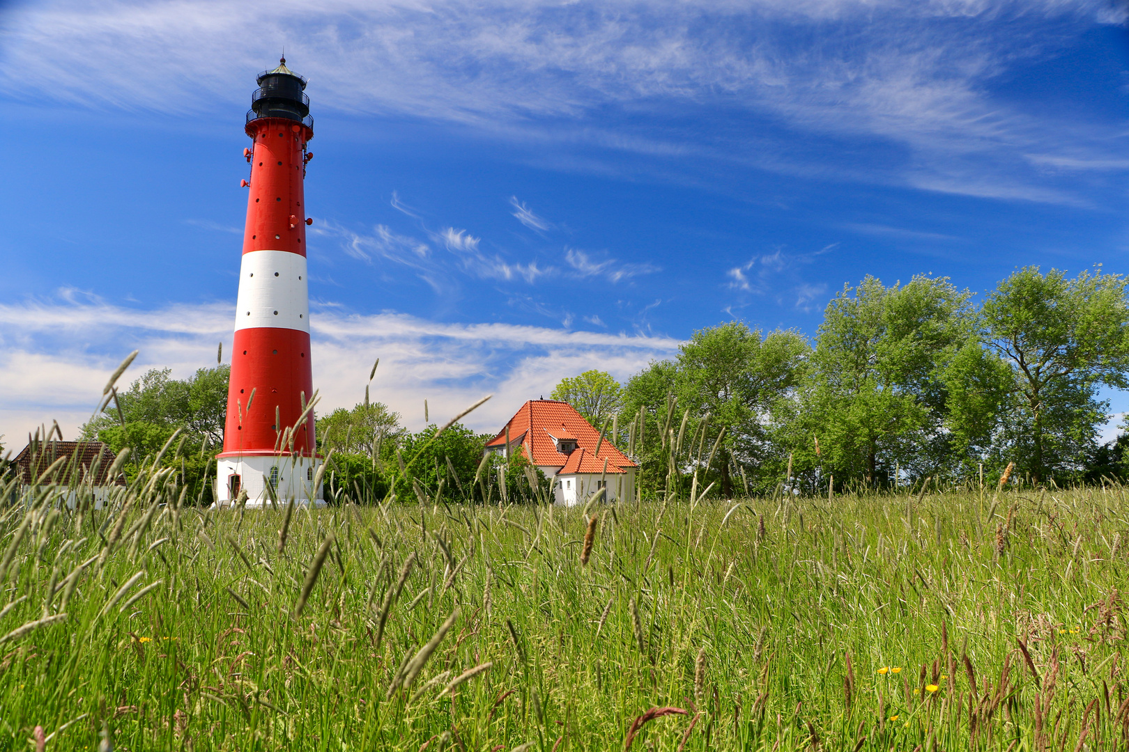
[[306, 257], [286, 250], [252, 250], [239, 266], [235, 328], [309, 331]]

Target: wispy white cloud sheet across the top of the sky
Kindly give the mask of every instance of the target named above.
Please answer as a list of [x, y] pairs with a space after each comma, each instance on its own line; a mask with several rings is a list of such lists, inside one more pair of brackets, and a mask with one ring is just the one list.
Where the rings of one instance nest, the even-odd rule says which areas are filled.
[[[248, 72], [286, 45], [310, 79], [315, 114], [392, 113], [506, 139], [837, 169], [820, 157], [805, 162], [791, 139], [750, 150], [746, 132], [702, 140], [698, 126], [648, 135], [604, 127], [609, 107], [682, 115], [720, 104], [759, 122], [878, 140], [896, 154], [840, 174], [1078, 203], [1054, 174], [1124, 169], [1120, 126], [1025, 112], [995, 98], [992, 83], [1016, 61], [1049, 59], [1054, 45], [1123, 17], [1121, 3], [1104, 0], [329, 0], [316, 9], [298, 0], [43, 0], [6, 11], [0, 76], [10, 96], [29, 100], [182, 113], [186, 103], [242, 103]], [[544, 229], [513, 203], [518, 221]]]

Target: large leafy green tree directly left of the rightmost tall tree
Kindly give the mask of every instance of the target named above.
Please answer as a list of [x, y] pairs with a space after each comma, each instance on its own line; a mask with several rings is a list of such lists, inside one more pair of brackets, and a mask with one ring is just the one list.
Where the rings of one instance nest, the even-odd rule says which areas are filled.
[[835, 295], [815, 340], [803, 431], [794, 432], [808, 466], [873, 486], [899, 465], [925, 475], [945, 462], [944, 368], [970, 336], [970, 297], [928, 276], [891, 287], [867, 276]]

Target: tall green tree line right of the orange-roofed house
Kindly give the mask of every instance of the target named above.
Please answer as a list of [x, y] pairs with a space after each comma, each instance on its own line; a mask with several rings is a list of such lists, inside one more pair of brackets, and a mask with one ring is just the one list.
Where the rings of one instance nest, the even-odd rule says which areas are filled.
[[725, 497], [782, 480], [806, 493], [980, 483], [1010, 462], [1036, 485], [1123, 478], [1129, 440], [1097, 440], [1101, 388], [1127, 386], [1126, 284], [1100, 267], [1026, 267], [977, 306], [947, 277], [867, 276], [812, 338], [730, 321], [624, 384], [588, 372], [563, 392], [634, 444], [653, 494], [692, 475]]

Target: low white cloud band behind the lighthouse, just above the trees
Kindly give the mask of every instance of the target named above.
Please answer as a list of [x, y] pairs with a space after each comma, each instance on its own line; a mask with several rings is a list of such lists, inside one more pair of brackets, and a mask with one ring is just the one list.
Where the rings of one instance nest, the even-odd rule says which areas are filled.
[[[168, 366], [175, 378], [185, 378], [215, 364], [218, 342], [230, 352], [230, 303], [147, 311], [97, 299], [73, 300], [0, 306], [0, 434], [8, 448], [21, 445], [29, 431], [53, 419], [64, 437], [73, 437], [97, 405], [106, 379], [134, 348], [140, 355], [122, 377], [123, 384], [149, 368]], [[679, 345], [662, 336], [441, 324], [395, 312], [350, 315], [335, 306], [315, 306], [310, 324], [321, 412], [364, 399], [368, 370], [379, 356], [373, 399], [400, 412], [413, 430], [422, 427], [423, 399], [434, 421], [493, 393], [466, 419], [476, 431], [490, 431], [524, 400], [548, 395], [566, 375], [601, 368], [627, 379]]]

